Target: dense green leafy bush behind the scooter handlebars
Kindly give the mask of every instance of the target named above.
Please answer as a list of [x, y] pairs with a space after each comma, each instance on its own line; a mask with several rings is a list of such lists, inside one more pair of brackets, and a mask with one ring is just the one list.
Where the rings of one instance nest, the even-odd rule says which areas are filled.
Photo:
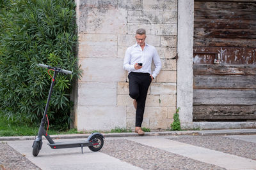
[[[0, 0], [0, 111], [16, 122], [40, 122], [51, 85], [47, 69], [58, 74], [48, 117], [51, 124], [70, 124], [72, 80], [76, 59], [76, 4], [71, 0]], [[51, 72], [51, 74], [53, 74]]]

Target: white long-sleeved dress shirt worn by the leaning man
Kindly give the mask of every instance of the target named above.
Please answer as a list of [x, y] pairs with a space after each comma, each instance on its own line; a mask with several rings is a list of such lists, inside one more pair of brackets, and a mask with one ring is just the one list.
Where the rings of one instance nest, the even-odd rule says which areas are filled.
[[[152, 60], [155, 64], [155, 69], [152, 73], [151, 63]], [[135, 69], [134, 65], [136, 63], [143, 63], [141, 69]], [[161, 69], [161, 60], [157, 53], [157, 50], [154, 46], [148, 45], [145, 43], [144, 49], [141, 49], [141, 46], [136, 43], [135, 45], [127, 48], [124, 57], [124, 69], [130, 72], [137, 73], [149, 73], [154, 78], [156, 78], [157, 74]]]

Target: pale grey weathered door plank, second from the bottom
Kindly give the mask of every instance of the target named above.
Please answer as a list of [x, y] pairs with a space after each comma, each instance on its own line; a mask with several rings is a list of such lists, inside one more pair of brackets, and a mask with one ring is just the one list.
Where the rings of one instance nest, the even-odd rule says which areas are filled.
[[193, 105], [254, 105], [255, 90], [194, 89]]

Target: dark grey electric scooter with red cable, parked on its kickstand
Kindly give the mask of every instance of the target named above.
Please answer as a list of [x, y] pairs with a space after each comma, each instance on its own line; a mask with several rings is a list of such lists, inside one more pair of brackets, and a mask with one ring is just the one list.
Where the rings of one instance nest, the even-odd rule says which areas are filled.
[[[59, 67], [51, 67], [51, 66], [47, 66], [44, 64], [38, 64], [38, 66], [47, 68], [49, 70], [53, 70], [54, 75], [52, 77], [51, 88], [49, 90], [49, 95], [48, 95], [47, 103], [46, 103], [45, 110], [44, 110], [44, 116], [42, 118], [39, 130], [38, 130], [38, 135], [36, 136], [36, 139], [32, 146], [33, 155], [36, 157], [42, 148], [42, 145], [43, 145], [42, 135], [44, 135], [45, 138], [49, 141], [49, 143], [47, 143], [47, 145], [49, 145], [52, 149], [81, 147], [81, 150], [83, 153], [83, 146], [88, 146], [89, 149], [92, 150], [93, 152], [99, 151], [102, 148], [102, 146], [104, 145], [104, 140], [103, 140], [104, 137], [102, 134], [100, 134], [98, 132], [94, 132], [94, 133], [90, 134], [90, 136], [87, 138], [87, 140], [84, 140], [84, 141], [56, 142], [56, 143], [52, 140], [52, 138], [49, 136], [49, 134], [47, 134], [47, 131], [45, 131], [45, 123], [46, 123], [46, 118], [48, 120], [47, 110], [48, 110], [49, 103], [51, 100], [52, 89], [54, 87], [56, 75], [58, 73], [72, 74], [72, 72], [65, 70], [65, 69], [61, 69]], [[48, 70], [48, 73], [49, 73], [49, 70]], [[50, 76], [51, 76], [51, 74], [50, 74]], [[49, 123], [48, 123], [48, 125], [49, 125]]]

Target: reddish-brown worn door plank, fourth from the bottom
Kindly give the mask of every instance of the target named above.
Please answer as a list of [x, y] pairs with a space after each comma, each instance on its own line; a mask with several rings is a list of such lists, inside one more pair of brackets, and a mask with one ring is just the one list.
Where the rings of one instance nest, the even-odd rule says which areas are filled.
[[218, 74], [218, 75], [256, 75], [256, 65], [214, 65], [194, 64], [194, 75]]

